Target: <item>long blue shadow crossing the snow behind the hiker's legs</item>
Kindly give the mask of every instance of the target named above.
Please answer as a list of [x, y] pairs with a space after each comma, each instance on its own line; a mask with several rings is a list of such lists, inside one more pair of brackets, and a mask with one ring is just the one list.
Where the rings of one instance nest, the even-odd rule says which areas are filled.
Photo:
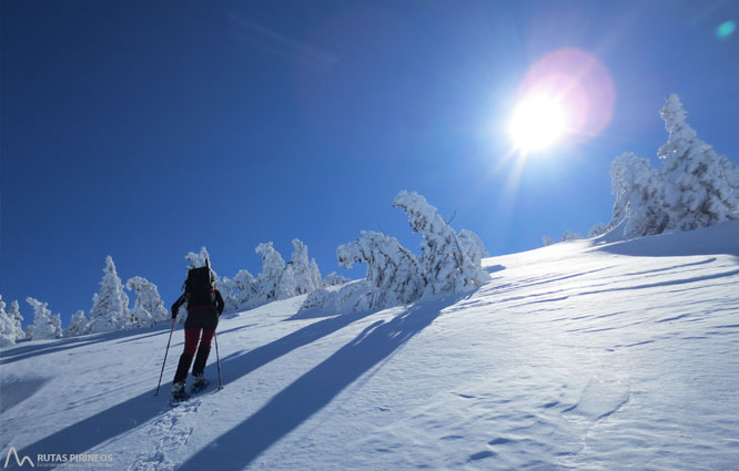
[[[351, 322], [368, 316], [371, 313], [338, 316], [303, 327], [271, 344], [259, 347], [245, 355], [232, 355], [221, 361], [224, 383], [280, 358], [290, 351], [311, 344], [322, 337], [344, 328]], [[209, 368], [213, 368], [211, 365]], [[166, 389], [164, 389], [166, 390]], [[19, 454], [36, 457], [37, 454], [79, 454], [91, 448], [111, 440], [168, 410], [166, 392], [154, 398], [155, 389], [131, 398], [124, 402], [98, 412], [84, 420], [50, 434], [29, 444]], [[16, 464], [11, 460], [11, 467]], [[206, 468], [210, 469], [210, 468]]]

